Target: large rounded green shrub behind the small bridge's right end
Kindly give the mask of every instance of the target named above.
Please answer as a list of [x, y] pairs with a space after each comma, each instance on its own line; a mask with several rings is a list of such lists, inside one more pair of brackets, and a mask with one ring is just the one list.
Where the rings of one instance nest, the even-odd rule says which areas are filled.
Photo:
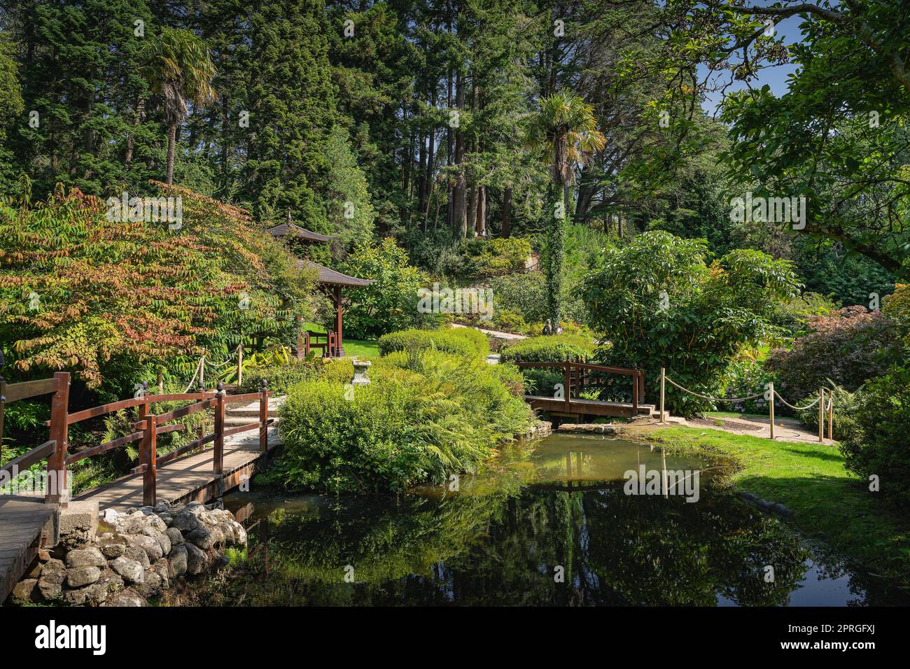
[[[746, 345], [772, 336], [773, 305], [798, 294], [789, 262], [737, 249], [706, 264], [703, 240], [646, 232], [607, 248], [591, 272], [584, 299], [591, 325], [612, 342], [598, 360], [645, 370], [646, 391], [666, 368], [677, 383], [704, 392], [717, 387]], [[670, 391], [670, 411], [703, 411], [703, 400]]]

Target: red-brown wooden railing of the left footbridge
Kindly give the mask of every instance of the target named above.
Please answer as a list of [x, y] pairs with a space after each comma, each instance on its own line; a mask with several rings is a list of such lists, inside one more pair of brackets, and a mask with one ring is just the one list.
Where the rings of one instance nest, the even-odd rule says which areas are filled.
[[[51, 399], [51, 419], [45, 423], [50, 426], [50, 439], [0, 467], [0, 474], [5, 473], [10, 479], [15, 479], [16, 474], [25, 471], [36, 462], [46, 458], [45, 502], [66, 504], [66, 477], [69, 465], [94, 455], [124, 447], [135, 441], [139, 442], [139, 463], [130, 473], [142, 474], [142, 498], [143, 504], [146, 505], [154, 505], [156, 503], [157, 468], [177, 460], [181, 455], [205, 449], [207, 444], [211, 443], [213, 474], [218, 478], [224, 474], [224, 444], [226, 437], [240, 432], [258, 430], [259, 451], [268, 451], [268, 426], [272, 422], [268, 418], [268, 396], [271, 392], [269, 392], [265, 380], [262, 381], [262, 389], [259, 392], [248, 392], [242, 395], [228, 395], [224, 390], [224, 385], [220, 382], [214, 392], [180, 392], [151, 395], [147, 392], [147, 385], [143, 383], [143, 388], [138, 397], [103, 404], [91, 409], [76, 411], [75, 413], [68, 412], [69, 383], [69, 373], [63, 371], [56, 372], [53, 379], [25, 381], [23, 383], [7, 384], [0, 377], [0, 444], [2, 444], [3, 439], [3, 416], [6, 404], [15, 400], [25, 400], [54, 393]], [[179, 409], [159, 414], [151, 411], [155, 404], [182, 400], [191, 400], [192, 403]], [[259, 402], [259, 415], [256, 421], [225, 428], [225, 409], [228, 404], [256, 400]], [[67, 455], [68, 443], [66, 440], [70, 425], [133, 407], [137, 408], [139, 419], [132, 425], [134, 432], [84, 451]], [[166, 455], [158, 456], [157, 437], [159, 434], [187, 429], [186, 425], [182, 423], [171, 425], [166, 423], [185, 418], [197, 411], [207, 411], [209, 409], [214, 412], [214, 427], [210, 434], [203, 435], [200, 427], [198, 428], [196, 440], [190, 441], [185, 446], [181, 446], [175, 451], [170, 451]]]

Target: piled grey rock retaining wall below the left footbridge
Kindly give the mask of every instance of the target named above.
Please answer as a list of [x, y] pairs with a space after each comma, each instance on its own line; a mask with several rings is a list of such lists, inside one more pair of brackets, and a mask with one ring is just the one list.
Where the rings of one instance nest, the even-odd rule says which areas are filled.
[[[96, 511], [97, 513], [97, 511]], [[95, 528], [61, 532], [16, 583], [15, 603], [145, 606], [177, 578], [227, 563], [224, 549], [246, 545], [247, 532], [227, 511], [198, 502], [105, 512]]]

